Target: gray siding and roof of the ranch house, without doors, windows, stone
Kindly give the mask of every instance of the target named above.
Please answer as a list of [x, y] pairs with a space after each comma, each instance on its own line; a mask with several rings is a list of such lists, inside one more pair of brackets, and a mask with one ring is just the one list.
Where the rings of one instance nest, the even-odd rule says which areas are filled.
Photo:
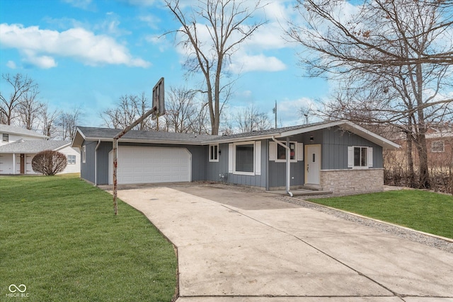
[[[117, 134], [118, 129], [79, 127], [78, 132], [80, 133], [76, 135], [77, 138], [74, 139], [73, 145], [86, 148], [85, 162], [81, 162], [81, 178], [96, 185], [108, 184], [109, 153], [113, 149], [111, 138]], [[283, 143], [287, 139], [302, 143], [304, 153], [306, 146], [321, 146], [321, 170], [348, 169], [348, 146], [372, 147], [372, 168], [382, 169], [383, 146], [386, 148], [398, 148], [398, 145], [376, 134], [367, 132], [366, 129], [362, 129], [350, 122], [341, 121], [269, 129], [226, 137], [132, 131], [125, 135], [125, 141], [119, 141], [119, 145], [185, 148], [191, 153], [192, 175], [190, 179], [192, 181], [228, 182], [230, 184], [263, 187], [269, 190], [273, 187], [284, 187], [286, 180], [286, 163], [269, 160], [269, 145], [270, 142], [273, 142], [270, 137], [273, 136]], [[259, 175], [256, 175], [257, 173], [255, 175], [239, 175], [229, 171], [229, 158], [232, 158], [229, 154], [229, 146], [230, 144], [244, 141], [260, 141]], [[215, 162], [210, 161], [209, 151], [211, 144], [218, 144], [219, 146], [219, 158]], [[96, 146], [98, 146], [97, 149]], [[304, 185], [304, 160], [292, 162], [290, 166], [290, 185]], [[97, 174], [96, 180], [95, 173]]]

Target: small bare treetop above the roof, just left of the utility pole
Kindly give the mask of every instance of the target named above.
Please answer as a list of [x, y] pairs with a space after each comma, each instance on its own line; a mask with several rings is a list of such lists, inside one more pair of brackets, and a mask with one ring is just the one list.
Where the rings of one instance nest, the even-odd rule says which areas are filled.
[[236, 112], [236, 124], [241, 133], [270, 129], [272, 125], [268, 115], [253, 104]]

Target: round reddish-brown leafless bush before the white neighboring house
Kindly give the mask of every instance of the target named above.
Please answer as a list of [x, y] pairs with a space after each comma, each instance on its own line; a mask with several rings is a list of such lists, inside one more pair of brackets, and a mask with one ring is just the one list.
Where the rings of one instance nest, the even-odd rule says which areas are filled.
[[45, 150], [36, 154], [31, 161], [33, 171], [44, 175], [55, 175], [66, 168], [68, 161], [63, 153]]

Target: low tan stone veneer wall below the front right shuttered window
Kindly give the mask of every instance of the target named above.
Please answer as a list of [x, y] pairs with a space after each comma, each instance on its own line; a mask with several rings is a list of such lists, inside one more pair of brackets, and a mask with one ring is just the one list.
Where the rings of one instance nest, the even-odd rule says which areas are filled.
[[321, 170], [321, 187], [333, 194], [360, 194], [384, 190], [384, 169]]

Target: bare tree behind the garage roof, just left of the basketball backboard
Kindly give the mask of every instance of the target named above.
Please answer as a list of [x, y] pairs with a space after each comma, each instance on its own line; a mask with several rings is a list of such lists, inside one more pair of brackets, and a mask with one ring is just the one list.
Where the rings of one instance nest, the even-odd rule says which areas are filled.
[[[105, 127], [115, 129], [125, 129], [144, 115], [151, 108], [146, 94], [141, 95], [121, 95], [115, 108], [108, 108], [101, 112], [101, 118]], [[144, 119], [134, 129], [149, 130], [154, 129], [151, 117]]]

